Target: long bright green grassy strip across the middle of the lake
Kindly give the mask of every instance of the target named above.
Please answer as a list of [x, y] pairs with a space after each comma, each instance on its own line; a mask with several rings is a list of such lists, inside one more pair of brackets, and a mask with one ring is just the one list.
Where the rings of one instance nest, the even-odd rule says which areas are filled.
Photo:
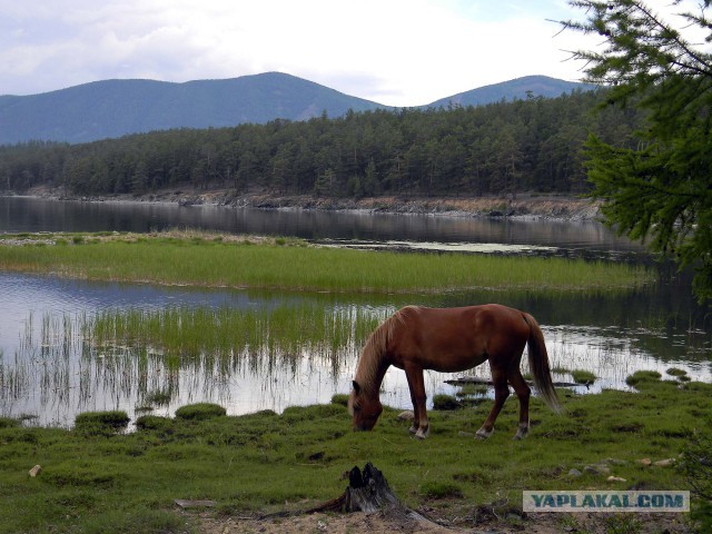
[[0, 269], [92, 280], [347, 293], [471, 288], [609, 291], [654, 280], [643, 267], [563, 258], [398, 254], [227, 236], [0, 238]]

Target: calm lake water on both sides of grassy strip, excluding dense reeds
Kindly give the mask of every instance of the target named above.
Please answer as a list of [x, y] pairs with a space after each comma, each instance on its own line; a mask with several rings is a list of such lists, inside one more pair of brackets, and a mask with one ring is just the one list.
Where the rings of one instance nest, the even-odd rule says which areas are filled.
[[[268, 211], [165, 205], [56, 202], [0, 198], [0, 231], [148, 231], [169, 227], [219, 229], [235, 234], [298, 236], [315, 240], [380, 245], [526, 245], [561, 254], [627, 258], [641, 248], [615, 238], [595, 222], [512, 221], [428, 216], [387, 216], [310, 211]], [[496, 249], [497, 247], [492, 247]], [[505, 247], [506, 248], [506, 247]], [[208, 365], [169, 368], [160, 355], [139, 357], [131, 347], [103, 354], [85, 343], [80, 325], [106, 309], [161, 309], [171, 306], [264, 309], [289, 303], [325, 309], [357, 307], [385, 317], [405, 304], [458, 306], [500, 301], [527, 309], [544, 330], [554, 366], [589, 369], [601, 387], [625, 388], [637, 369], [685, 369], [710, 380], [710, 328], [685, 283], [653, 290], [595, 296], [471, 291], [427, 297], [294, 295], [284, 293], [192, 290], [142, 285], [96, 284], [0, 273], [0, 414], [37, 415], [39, 424], [70, 425], [78, 412], [126, 409], [135, 415], [147, 393], [171, 389], [172, 414], [192, 402], [216, 402], [230, 414], [280, 411], [295, 404], [327, 402], [347, 393], [359, 346], [338, 354], [309, 349], [281, 354], [259, 365], [235, 365], [226, 373]], [[676, 286], [681, 284], [681, 286]], [[255, 347], [261, 355], [266, 348]], [[144, 355], [146, 356], [146, 355]], [[139, 362], [141, 362], [139, 364]], [[487, 369], [477, 369], [487, 376]], [[447, 375], [427, 377], [429, 395], [453, 393]], [[566, 374], [555, 377], [571, 380]], [[581, 388], [580, 388], [581, 390]], [[385, 403], [409, 404], [402, 372], [385, 382]], [[479, 409], [479, 408], [478, 408]], [[483, 416], [484, 411], [483, 409]]]

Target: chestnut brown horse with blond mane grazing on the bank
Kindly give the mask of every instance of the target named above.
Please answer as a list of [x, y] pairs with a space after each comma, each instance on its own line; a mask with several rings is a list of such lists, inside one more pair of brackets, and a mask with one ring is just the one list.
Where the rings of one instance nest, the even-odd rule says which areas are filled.
[[354, 429], [370, 431], [376, 424], [383, 412], [378, 389], [390, 365], [405, 370], [415, 414], [411, 433], [425, 438], [429, 428], [423, 369], [456, 373], [488, 360], [494, 406], [476, 435], [486, 438], [494, 432], [497, 415], [510, 396], [508, 380], [520, 399], [520, 424], [514, 437], [522, 439], [530, 429], [531, 390], [520, 372], [527, 344], [534, 385], [546, 404], [558, 412], [544, 336], [530, 314], [498, 304], [442, 309], [406, 306], [376, 328], [364, 346], [348, 399]]

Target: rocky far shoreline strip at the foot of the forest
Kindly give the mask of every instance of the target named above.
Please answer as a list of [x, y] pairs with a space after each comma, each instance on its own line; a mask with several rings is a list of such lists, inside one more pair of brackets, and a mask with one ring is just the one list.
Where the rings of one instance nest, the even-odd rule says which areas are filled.
[[82, 202], [154, 202], [181, 207], [214, 206], [226, 208], [303, 209], [325, 211], [362, 211], [395, 215], [433, 215], [446, 217], [502, 217], [561, 220], [597, 220], [600, 205], [585, 198], [544, 194], [521, 194], [516, 198], [483, 197], [368, 197], [326, 198], [314, 195], [278, 195], [270, 192], [236, 194], [230, 189], [167, 189], [141, 196], [68, 195], [62, 189], [40, 186], [23, 194], [11, 191], [0, 196], [44, 198]]

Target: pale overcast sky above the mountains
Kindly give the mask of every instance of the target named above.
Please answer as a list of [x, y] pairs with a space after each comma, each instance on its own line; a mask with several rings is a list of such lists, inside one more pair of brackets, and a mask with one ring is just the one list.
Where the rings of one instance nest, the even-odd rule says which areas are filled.
[[[577, 81], [565, 0], [0, 0], [0, 95], [280, 71], [389, 106]], [[558, 33], [558, 34], [557, 34]]]

